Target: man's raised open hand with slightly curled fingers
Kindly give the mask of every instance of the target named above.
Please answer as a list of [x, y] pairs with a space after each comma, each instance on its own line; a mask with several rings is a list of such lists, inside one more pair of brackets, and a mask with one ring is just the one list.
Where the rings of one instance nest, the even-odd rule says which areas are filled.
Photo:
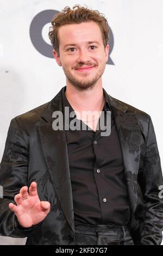
[[14, 200], [17, 205], [10, 203], [9, 208], [15, 213], [18, 222], [24, 228], [32, 227], [32, 225], [43, 221], [51, 207], [49, 202], [40, 201], [36, 182], [30, 184], [29, 193], [27, 186], [22, 187]]

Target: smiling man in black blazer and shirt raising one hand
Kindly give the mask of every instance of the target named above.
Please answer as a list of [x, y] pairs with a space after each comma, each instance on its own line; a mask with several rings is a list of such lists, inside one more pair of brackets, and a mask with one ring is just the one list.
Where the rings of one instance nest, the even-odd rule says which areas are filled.
[[[154, 128], [148, 114], [102, 87], [108, 34], [103, 15], [78, 5], [52, 21], [49, 38], [66, 87], [11, 120], [1, 162], [1, 235], [27, 236], [27, 245], [160, 245], [163, 181]], [[67, 130], [66, 123], [55, 129], [55, 113], [65, 117], [66, 107], [86, 130]], [[96, 129], [102, 111], [105, 122], [111, 113], [108, 136]]]

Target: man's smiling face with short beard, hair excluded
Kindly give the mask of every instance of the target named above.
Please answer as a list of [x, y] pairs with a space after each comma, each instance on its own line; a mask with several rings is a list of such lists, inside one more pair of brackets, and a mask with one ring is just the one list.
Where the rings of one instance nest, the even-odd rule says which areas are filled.
[[102, 32], [95, 22], [62, 26], [58, 31], [59, 53], [54, 58], [66, 75], [66, 81], [78, 89], [101, 82], [108, 61], [109, 45], [104, 48]]

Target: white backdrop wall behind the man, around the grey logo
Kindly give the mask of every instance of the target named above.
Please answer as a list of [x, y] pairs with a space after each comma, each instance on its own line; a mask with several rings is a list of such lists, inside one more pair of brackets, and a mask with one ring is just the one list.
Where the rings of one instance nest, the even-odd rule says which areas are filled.
[[[114, 36], [110, 56], [114, 65], [106, 65], [103, 87], [151, 115], [162, 162], [162, 0], [0, 0], [0, 161], [10, 120], [50, 101], [65, 86], [64, 72], [55, 60], [32, 44], [30, 24], [41, 11], [60, 11], [77, 3], [99, 10], [108, 19]], [[47, 44], [49, 25], [42, 29]], [[25, 241], [0, 237], [0, 245]]]

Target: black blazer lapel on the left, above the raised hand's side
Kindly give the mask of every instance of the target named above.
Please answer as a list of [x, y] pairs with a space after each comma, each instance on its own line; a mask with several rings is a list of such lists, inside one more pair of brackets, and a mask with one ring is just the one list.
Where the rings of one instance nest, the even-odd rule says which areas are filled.
[[45, 123], [38, 126], [42, 151], [47, 163], [48, 171], [53, 181], [60, 206], [65, 218], [74, 233], [73, 199], [68, 164], [66, 134], [64, 130], [54, 131], [52, 128], [52, 114], [61, 111], [61, 91], [50, 102], [47, 111], [43, 114]]

